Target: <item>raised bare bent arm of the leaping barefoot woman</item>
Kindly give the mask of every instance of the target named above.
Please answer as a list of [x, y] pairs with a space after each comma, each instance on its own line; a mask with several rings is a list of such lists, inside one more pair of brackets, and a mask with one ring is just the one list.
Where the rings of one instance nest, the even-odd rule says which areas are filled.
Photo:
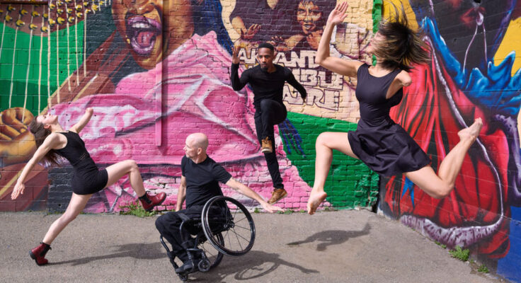
[[344, 76], [356, 76], [358, 67], [363, 64], [362, 62], [347, 61], [337, 57], [331, 57], [329, 55], [329, 42], [331, 41], [333, 28], [335, 28], [335, 25], [338, 25], [338, 23], [342, 23], [345, 17], [348, 16], [345, 13], [347, 9], [348, 2], [343, 2], [341, 4], [337, 4], [335, 9], [329, 14], [326, 28], [324, 28], [324, 33], [320, 39], [319, 49], [316, 50], [315, 63], [330, 71], [334, 71], [337, 74]]

